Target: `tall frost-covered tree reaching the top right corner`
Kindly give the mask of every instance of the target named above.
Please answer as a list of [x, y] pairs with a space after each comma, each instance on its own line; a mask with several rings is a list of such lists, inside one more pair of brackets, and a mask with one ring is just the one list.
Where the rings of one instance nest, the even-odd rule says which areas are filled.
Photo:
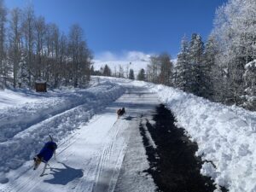
[[218, 9], [213, 30], [219, 42], [218, 65], [225, 68], [225, 102], [242, 103], [245, 66], [256, 55], [256, 2], [229, 0]]

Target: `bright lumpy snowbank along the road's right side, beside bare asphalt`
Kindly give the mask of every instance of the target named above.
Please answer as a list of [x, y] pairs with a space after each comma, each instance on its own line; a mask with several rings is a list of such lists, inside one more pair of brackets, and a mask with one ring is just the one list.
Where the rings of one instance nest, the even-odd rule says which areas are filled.
[[[152, 84], [150, 84], [152, 86]], [[206, 160], [201, 173], [230, 191], [256, 191], [256, 113], [163, 85], [152, 88]]]

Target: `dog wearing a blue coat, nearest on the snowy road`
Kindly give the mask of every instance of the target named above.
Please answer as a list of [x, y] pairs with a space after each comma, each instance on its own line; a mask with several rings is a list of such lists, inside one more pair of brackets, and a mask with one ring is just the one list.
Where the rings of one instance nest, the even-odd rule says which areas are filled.
[[44, 176], [44, 172], [46, 169], [46, 166], [49, 166], [48, 161], [50, 160], [50, 158], [54, 155], [55, 156], [55, 160], [56, 160], [56, 148], [57, 148], [57, 144], [53, 141], [52, 137], [49, 136], [50, 141], [48, 143], [44, 144], [44, 148], [42, 148], [39, 152], [39, 154], [37, 154], [33, 160], [34, 160], [34, 166], [33, 169], [36, 170], [38, 169], [38, 166], [41, 164], [41, 162], [44, 162], [44, 170], [41, 173], [40, 177]]

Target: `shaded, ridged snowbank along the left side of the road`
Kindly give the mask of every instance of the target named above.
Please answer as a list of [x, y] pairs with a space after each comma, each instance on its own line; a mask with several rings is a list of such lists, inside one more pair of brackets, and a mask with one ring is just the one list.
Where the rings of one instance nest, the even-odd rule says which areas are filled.
[[4, 172], [31, 160], [49, 134], [55, 141], [88, 121], [125, 92], [108, 81], [86, 90], [49, 93], [37, 102], [0, 109], [0, 183], [8, 182]]

